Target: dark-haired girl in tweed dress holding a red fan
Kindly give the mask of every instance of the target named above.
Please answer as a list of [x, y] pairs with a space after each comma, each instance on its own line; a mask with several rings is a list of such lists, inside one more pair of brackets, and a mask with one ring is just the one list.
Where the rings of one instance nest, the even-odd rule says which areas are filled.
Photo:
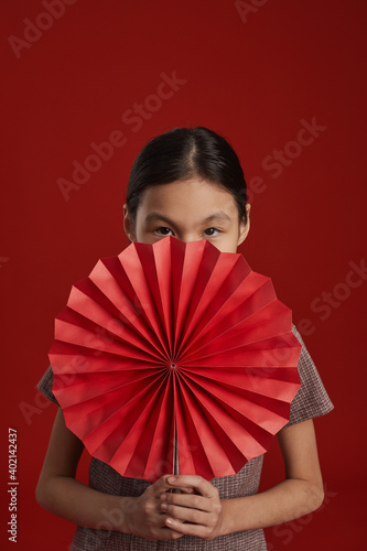
[[[239, 160], [228, 142], [206, 128], [176, 128], [151, 140], [130, 174], [125, 230], [131, 241], [153, 244], [172, 235], [185, 242], [208, 239], [236, 252], [250, 227], [250, 205]], [[333, 404], [302, 345], [301, 388], [289, 423], [278, 433], [285, 479], [258, 494], [263, 456], [234, 476], [211, 482], [164, 475], [154, 484], [120, 476], [91, 458], [89, 487], [75, 479], [82, 442], [58, 408], [36, 498], [48, 511], [78, 525], [72, 551], [263, 551], [262, 528], [306, 515], [323, 501], [312, 418]], [[50, 366], [39, 388], [52, 393]], [[180, 493], [168, 491], [172, 488]]]

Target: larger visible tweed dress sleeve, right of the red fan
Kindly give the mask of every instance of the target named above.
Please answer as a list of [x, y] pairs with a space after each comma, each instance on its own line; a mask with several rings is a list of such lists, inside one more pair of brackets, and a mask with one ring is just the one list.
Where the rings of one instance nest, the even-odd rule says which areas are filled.
[[328, 398], [325, 387], [317, 372], [316, 366], [314, 365], [295, 325], [293, 325], [293, 333], [302, 345], [298, 364], [301, 387], [292, 400], [290, 420], [285, 426], [301, 423], [307, 419], [324, 415], [334, 409], [334, 406]]

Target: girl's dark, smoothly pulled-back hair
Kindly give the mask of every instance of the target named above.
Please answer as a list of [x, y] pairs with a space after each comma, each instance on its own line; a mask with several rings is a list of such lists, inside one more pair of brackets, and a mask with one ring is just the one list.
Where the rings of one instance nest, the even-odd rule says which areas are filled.
[[147, 187], [198, 176], [227, 190], [239, 220], [247, 222], [246, 182], [227, 140], [204, 127], [174, 128], [150, 140], [137, 156], [129, 177], [127, 205], [132, 224]]

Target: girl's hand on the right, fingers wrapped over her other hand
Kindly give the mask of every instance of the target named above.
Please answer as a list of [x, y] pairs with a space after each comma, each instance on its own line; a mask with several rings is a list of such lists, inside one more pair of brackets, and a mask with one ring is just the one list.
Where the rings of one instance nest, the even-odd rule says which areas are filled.
[[[183, 494], [161, 494], [162, 512], [170, 516], [165, 525], [186, 536], [212, 540], [223, 532], [222, 503], [217, 488], [202, 476], [174, 475], [168, 483]], [[187, 489], [196, 491], [186, 494]]]

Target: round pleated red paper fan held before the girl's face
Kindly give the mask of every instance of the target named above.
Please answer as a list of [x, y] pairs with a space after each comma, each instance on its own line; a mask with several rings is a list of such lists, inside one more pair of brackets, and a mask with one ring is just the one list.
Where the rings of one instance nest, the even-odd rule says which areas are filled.
[[[289, 420], [301, 345], [271, 280], [207, 240], [100, 259], [50, 350], [67, 426], [122, 476], [236, 474]], [[176, 463], [176, 465], [175, 465]]]

